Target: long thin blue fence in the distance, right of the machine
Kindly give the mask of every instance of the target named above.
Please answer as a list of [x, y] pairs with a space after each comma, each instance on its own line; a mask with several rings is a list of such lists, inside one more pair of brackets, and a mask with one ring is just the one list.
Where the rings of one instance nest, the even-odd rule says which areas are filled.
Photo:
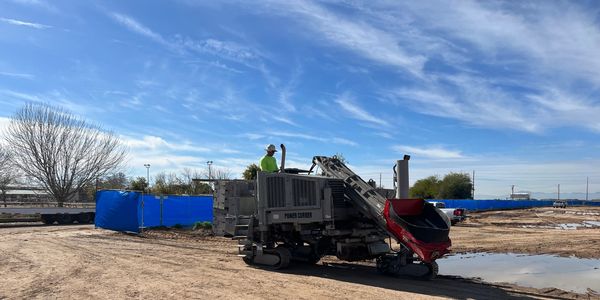
[[[472, 199], [435, 199], [429, 201], [444, 202], [448, 208], [466, 208], [469, 211], [503, 210], [530, 207], [552, 206], [555, 200], [472, 200]], [[566, 200], [568, 206], [600, 206], [600, 201]]]

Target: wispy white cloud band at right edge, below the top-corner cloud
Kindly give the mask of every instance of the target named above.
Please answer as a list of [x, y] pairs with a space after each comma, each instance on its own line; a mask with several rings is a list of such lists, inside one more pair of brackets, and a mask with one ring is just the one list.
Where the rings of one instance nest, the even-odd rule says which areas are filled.
[[422, 114], [455, 119], [484, 128], [541, 133], [562, 126], [600, 132], [600, 103], [588, 95], [554, 87], [514, 92], [473, 76], [448, 76], [444, 82], [381, 91], [383, 98]]

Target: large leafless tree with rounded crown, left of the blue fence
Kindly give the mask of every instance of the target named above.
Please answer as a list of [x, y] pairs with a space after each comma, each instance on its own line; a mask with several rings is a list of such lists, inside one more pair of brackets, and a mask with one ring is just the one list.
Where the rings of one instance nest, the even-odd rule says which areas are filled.
[[59, 206], [125, 158], [125, 148], [112, 132], [44, 104], [25, 105], [6, 133], [15, 165], [42, 184]]

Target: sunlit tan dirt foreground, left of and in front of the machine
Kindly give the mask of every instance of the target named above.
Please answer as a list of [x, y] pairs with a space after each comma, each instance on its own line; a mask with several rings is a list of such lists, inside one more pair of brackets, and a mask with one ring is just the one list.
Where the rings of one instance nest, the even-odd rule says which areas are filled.
[[[0, 277], [0, 296], [21, 298], [529, 299], [543, 291], [441, 277], [423, 282], [377, 274], [369, 264], [296, 265], [276, 272], [245, 265], [236, 242], [159, 240], [88, 228], [35, 228], [6, 235], [0, 253], [22, 267]], [[24, 242], [23, 240], [28, 240]], [[14, 256], [13, 255], [13, 256]], [[12, 257], [12, 256], [11, 256]], [[12, 268], [20, 264], [8, 261]], [[7, 286], [12, 285], [10, 288]], [[554, 297], [554, 296], [553, 296]]]

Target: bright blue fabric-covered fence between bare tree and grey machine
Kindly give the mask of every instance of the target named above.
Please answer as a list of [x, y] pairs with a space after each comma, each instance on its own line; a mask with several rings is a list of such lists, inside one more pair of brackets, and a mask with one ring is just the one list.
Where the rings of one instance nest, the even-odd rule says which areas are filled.
[[96, 192], [96, 227], [140, 232], [159, 226], [189, 227], [213, 221], [213, 197], [155, 196], [134, 191]]

